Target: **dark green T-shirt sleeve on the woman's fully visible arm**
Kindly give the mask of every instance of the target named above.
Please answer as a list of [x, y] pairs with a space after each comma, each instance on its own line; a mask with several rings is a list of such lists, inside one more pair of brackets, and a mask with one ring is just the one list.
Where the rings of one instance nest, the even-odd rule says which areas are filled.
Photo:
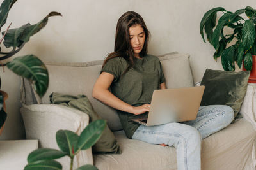
[[114, 82], [116, 82], [118, 81], [118, 79], [123, 73], [123, 69], [124, 69], [123, 65], [124, 64], [122, 64], [121, 57], [115, 57], [113, 59], [108, 60], [108, 62], [106, 62], [105, 66], [101, 69], [100, 74], [102, 72], [112, 74], [115, 77]]

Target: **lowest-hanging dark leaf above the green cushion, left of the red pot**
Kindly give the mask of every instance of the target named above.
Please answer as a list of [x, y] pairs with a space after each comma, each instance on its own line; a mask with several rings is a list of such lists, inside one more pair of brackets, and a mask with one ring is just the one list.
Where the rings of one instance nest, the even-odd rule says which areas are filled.
[[221, 64], [225, 71], [234, 71], [235, 64], [234, 64], [234, 53], [235, 47], [234, 45], [225, 49], [221, 55]]

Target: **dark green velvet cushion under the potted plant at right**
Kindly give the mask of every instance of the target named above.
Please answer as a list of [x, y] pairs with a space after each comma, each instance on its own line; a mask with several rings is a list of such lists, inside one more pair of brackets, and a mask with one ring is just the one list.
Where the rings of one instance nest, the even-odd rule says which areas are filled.
[[205, 86], [201, 106], [223, 104], [233, 108], [234, 117], [240, 111], [248, 85], [250, 71], [220, 71], [206, 69], [201, 85]]

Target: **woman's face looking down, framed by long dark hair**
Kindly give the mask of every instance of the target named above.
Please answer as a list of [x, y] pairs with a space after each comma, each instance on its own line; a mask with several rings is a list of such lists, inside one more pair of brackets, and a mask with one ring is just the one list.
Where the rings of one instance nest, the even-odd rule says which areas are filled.
[[140, 58], [140, 52], [145, 43], [145, 32], [141, 25], [133, 25], [129, 28], [130, 45], [134, 57]]

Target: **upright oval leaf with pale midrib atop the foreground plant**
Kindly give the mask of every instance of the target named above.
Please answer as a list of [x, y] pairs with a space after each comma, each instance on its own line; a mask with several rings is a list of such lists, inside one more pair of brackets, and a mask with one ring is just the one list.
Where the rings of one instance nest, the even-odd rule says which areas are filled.
[[57, 144], [63, 152], [70, 156], [74, 156], [77, 152], [77, 141], [79, 136], [68, 130], [59, 130], [56, 133]]

